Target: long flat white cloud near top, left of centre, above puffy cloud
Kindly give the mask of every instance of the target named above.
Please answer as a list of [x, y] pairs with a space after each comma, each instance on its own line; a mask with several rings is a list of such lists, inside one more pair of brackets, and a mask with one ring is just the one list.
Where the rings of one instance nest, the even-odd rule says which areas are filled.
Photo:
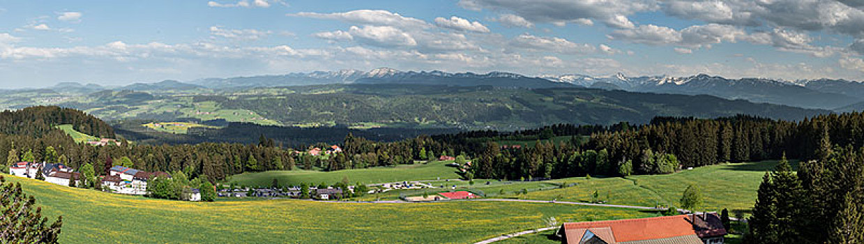
[[403, 29], [421, 28], [427, 29], [431, 24], [422, 20], [401, 16], [397, 13], [392, 13], [387, 10], [353, 10], [342, 13], [315, 13], [315, 12], [299, 12], [288, 14], [288, 16], [301, 16], [318, 19], [331, 19], [341, 22], [359, 23], [379, 26], [393, 26]]

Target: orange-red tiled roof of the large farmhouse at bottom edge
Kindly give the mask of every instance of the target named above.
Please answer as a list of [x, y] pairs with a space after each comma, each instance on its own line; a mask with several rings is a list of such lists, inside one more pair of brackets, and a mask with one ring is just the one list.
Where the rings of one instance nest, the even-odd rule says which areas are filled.
[[[568, 243], [579, 243], [587, 231], [591, 231], [600, 236], [600, 239], [603, 239], [603, 241], [607, 241], [608, 243], [647, 241], [696, 234], [694, 225], [690, 223], [689, 215], [661, 216], [645, 219], [603, 222], [572, 222], [564, 223], [562, 228], [564, 234], [567, 236]], [[702, 241], [695, 243], [702, 243]]]

